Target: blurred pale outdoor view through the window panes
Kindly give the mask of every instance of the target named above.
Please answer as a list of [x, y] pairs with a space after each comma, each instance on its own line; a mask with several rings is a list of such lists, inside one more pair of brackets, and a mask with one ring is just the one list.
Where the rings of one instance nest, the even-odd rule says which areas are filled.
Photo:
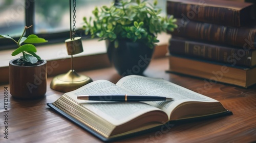
[[[32, 0], [29, 0], [32, 1]], [[69, 31], [69, 0], [33, 0], [35, 2], [34, 33], [50, 34]], [[73, 2], [73, 1], [72, 1]], [[76, 29], [81, 29], [83, 17], [90, 17], [95, 6], [110, 5], [113, 0], [76, 0]], [[153, 2], [150, 0], [149, 2]], [[165, 13], [165, 0], [158, 6]], [[21, 0], [0, 1], [0, 33], [18, 37], [25, 27], [25, 8], [30, 3]], [[72, 14], [73, 15], [73, 14]]]

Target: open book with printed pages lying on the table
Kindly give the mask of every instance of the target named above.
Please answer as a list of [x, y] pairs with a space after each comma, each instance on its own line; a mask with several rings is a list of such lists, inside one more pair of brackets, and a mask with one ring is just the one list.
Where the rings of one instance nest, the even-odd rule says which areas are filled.
[[[137, 94], [165, 96], [173, 101], [106, 102], [77, 100], [82, 94]], [[126, 76], [116, 84], [98, 80], [63, 94], [48, 106], [106, 141], [169, 121], [231, 114], [222, 104], [163, 79]]]

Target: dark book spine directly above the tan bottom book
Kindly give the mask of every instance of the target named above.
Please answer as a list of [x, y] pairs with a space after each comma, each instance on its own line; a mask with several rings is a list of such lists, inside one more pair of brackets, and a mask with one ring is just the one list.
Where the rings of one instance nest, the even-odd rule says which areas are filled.
[[231, 65], [253, 66], [251, 61], [252, 50], [243, 50], [175, 38], [170, 39], [168, 50], [170, 54], [202, 58]]

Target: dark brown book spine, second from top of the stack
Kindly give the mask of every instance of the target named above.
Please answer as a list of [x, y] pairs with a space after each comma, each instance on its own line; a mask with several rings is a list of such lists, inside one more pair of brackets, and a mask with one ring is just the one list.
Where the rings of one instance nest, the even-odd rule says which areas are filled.
[[247, 50], [256, 47], [256, 28], [226, 27], [180, 18], [177, 18], [176, 24], [178, 28], [174, 32], [168, 32], [174, 36], [218, 42]]

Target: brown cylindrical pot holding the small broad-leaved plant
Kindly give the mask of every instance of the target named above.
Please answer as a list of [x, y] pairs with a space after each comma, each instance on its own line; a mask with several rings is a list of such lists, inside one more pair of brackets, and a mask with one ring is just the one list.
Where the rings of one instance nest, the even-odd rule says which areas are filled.
[[13, 98], [38, 99], [45, 96], [47, 87], [47, 62], [32, 66], [14, 64], [17, 59], [9, 62], [10, 93]]

